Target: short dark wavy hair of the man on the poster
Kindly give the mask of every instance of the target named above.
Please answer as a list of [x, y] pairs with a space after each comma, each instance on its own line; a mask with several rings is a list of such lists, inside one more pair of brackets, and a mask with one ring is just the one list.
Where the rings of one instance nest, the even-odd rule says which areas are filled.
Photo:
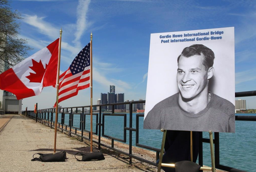
[[[205, 69], [208, 70], [210, 67], [213, 66], [214, 53], [211, 49], [202, 44], [194, 44], [184, 48], [181, 55], [183, 55], [184, 57], [191, 57], [193, 55], [203, 55], [203, 65], [205, 66]], [[178, 64], [181, 55], [179, 55], [177, 59]]]

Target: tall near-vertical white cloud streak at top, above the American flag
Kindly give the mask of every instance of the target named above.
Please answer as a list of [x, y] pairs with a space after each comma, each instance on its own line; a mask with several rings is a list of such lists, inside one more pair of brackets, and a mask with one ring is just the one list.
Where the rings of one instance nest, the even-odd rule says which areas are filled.
[[88, 27], [86, 14], [88, 12], [90, 2], [91, 0], [79, 0], [78, 2], [75, 40], [73, 41], [77, 45], [80, 45], [80, 38], [86, 27]]

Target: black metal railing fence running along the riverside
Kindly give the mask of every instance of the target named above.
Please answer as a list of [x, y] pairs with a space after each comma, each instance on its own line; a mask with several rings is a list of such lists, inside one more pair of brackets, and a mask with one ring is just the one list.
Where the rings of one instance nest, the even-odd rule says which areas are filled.
[[[256, 96], [256, 91], [250, 91], [250, 92], [239, 92], [235, 94], [236, 97], [246, 97], [246, 96]], [[101, 146], [109, 148], [111, 150], [115, 150], [119, 153], [125, 154], [129, 156], [129, 164], [132, 163], [132, 158], [137, 159], [142, 162], [146, 162], [148, 164], [157, 166], [156, 162], [154, 161], [148, 161], [144, 158], [138, 157], [132, 153], [132, 134], [135, 132], [136, 136], [136, 146], [140, 148], [145, 148], [148, 150], [152, 150], [156, 152], [156, 160], [159, 159], [159, 152], [161, 151], [158, 148], [150, 147], [147, 145], [143, 145], [139, 143], [139, 118], [144, 117], [144, 114], [136, 114], [136, 126], [133, 128], [132, 126], [132, 105], [133, 104], [138, 104], [138, 103], [145, 103], [145, 100], [141, 101], [129, 101], [129, 102], [124, 102], [124, 103], [112, 103], [112, 104], [103, 104], [103, 105], [93, 105], [93, 107], [98, 106], [99, 107], [99, 113], [93, 113], [93, 116], [96, 116], [95, 120], [95, 132], [93, 132], [94, 135], [98, 135], [98, 140], [95, 141], [93, 140], [94, 143], [98, 144], [98, 149], [101, 149]], [[114, 111], [114, 106], [115, 105], [129, 105], [129, 127], [126, 126], [126, 120], [127, 120], [127, 115], [126, 114], [115, 114]], [[102, 113], [102, 106], [112, 106], [112, 113]], [[85, 137], [84, 133], [90, 133], [90, 130], [85, 130], [85, 117], [86, 115], [90, 115], [89, 113], [85, 113], [85, 108], [89, 108], [90, 106], [80, 106], [80, 107], [65, 107], [65, 108], [59, 108], [58, 113], [57, 113], [57, 118], [61, 114], [61, 122], [57, 122], [57, 128], [61, 130], [61, 132], [66, 131], [69, 133], [69, 135], [75, 135], [81, 138], [81, 141], [83, 139], [90, 140], [90, 134], [88, 137]], [[80, 112], [78, 112], [78, 109]], [[34, 111], [27, 111], [27, 116], [30, 118], [35, 119], [36, 121], [47, 125], [51, 128], [54, 128], [55, 121], [53, 121], [53, 115], [55, 115], [54, 112], [55, 109], [49, 108], [49, 109], [41, 109], [38, 110], [37, 113]], [[74, 112], [75, 111], [75, 112]], [[25, 115], [25, 112], [22, 114]], [[65, 121], [65, 115], [68, 114], [69, 119], [68, 119], [68, 125], [64, 123]], [[73, 122], [74, 122], [74, 115], [80, 115], [80, 126], [79, 127], [74, 127]], [[108, 136], [104, 133], [105, 128], [105, 116], [122, 116], [124, 118], [124, 126], [121, 127], [120, 129], [124, 130], [124, 136], [122, 139], [115, 138], [112, 136]], [[236, 116], [236, 120], [242, 120], [242, 121], [256, 121], [256, 116]], [[77, 133], [77, 130], [81, 130], [81, 133]], [[129, 153], [121, 151], [119, 149], [116, 149], [114, 146], [114, 141], [119, 141], [119, 142], [127, 142], [126, 138], [126, 130], [129, 131]], [[101, 142], [101, 137], [109, 138], [111, 139], [111, 145], [106, 145]], [[210, 143], [210, 139], [208, 138], [203, 138], [202, 132], [200, 132], [200, 140], [199, 140], [199, 164], [202, 166], [203, 165], [203, 142], [204, 143]], [[225, 170], [225, 171], [230, 171], [232, 170], [238, 170], [229, 166], [221, 165], [220, 163], [220, 147], [219, 147], [219, 133], [214, 132], [214, 154], [215, 154], [215, 166], [217, 169]]]

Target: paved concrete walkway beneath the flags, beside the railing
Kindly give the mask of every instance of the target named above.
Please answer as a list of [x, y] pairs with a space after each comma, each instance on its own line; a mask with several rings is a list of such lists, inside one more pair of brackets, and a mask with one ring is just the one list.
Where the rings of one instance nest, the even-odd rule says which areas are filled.
[[79, 162], [74, 154], [89, 152], [90, 146], [61, 132], [57, 132], [56, 151], [67, 152], [65, 162], [31, 161], [34, 153], [52, 153], [53, 146], [54, 129], [23, 115], [0, 115], [0, 171], [156, 171], [139, 162], [129, 165], [127, 159], [108, 150], [103, 150], [105, 160]]

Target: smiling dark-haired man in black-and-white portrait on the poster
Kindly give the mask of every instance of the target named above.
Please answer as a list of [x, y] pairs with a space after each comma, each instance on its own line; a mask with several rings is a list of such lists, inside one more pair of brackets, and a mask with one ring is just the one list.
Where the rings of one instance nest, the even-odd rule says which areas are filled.
[[145, 129], [235, 132], [235, 106], [208, 90], [214, 73], [214, 53], [194, 44], [178, 57], [176, 93], [150, 110]]

